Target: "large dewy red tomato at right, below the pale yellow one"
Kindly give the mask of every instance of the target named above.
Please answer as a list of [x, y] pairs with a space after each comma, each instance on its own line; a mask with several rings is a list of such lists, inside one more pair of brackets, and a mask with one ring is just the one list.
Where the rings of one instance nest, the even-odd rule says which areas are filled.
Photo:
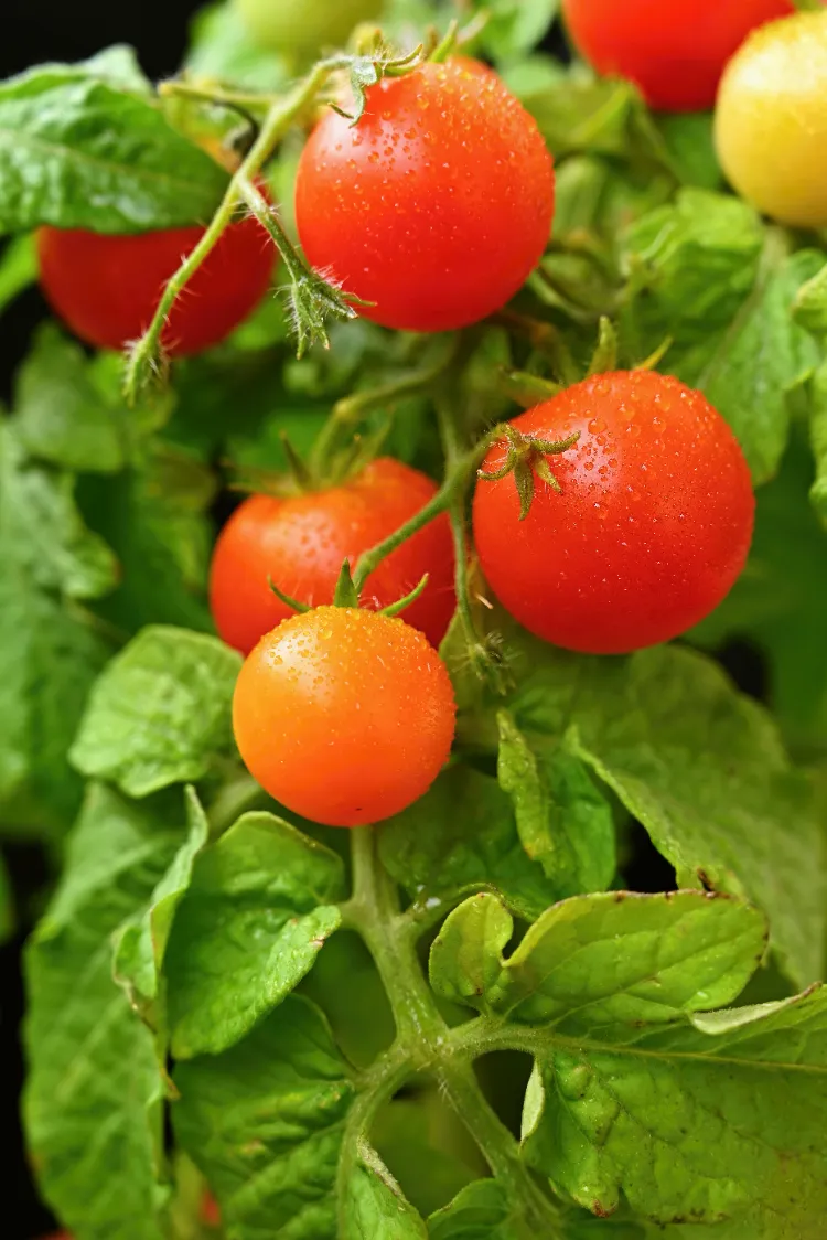
[[[474, 537], [503, 606], [546, 641], [596, 655], [667, 641], [697, 624], [744, 567], [755, 501], [732, 430], [699, 392], [665, 374], [598, 374], [515, 418], [579, 441], [546, 458], [520, 521], [513, 476], [481, 480]], [[506, 458], [502, 443], [484, 469]]]

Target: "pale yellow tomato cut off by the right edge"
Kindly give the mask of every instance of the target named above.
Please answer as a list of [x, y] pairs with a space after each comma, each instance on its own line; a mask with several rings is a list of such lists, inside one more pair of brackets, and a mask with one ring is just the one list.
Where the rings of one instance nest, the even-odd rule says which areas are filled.
[[827, 11], [756, 31], [730, 61], [715, 145], [733, 186], [785, 224], [827, 224]]

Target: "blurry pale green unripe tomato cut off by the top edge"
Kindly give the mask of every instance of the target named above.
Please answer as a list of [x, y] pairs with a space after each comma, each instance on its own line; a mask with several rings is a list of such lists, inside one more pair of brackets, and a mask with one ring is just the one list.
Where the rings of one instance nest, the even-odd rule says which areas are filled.
[[341, 47], [360, 21], [378, 17], [382, 0], [236, 0], [262, 47], [299, 57]]

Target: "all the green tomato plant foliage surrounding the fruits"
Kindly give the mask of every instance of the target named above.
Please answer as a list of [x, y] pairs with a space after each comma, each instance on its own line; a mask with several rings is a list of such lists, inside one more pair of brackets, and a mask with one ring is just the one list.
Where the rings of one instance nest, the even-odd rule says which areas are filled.
[[[60, 867], [26, 950], [24, 1111], [76, 1240], [203, 1240], [205, 1185], [227, 1240], [823, 1233], [825, 238], [725, 188], [709, 115], [651, 115], [541, 50], [554, 0], [462, 19], [484, 7], [470, 52], [557, 175], [548, 250], [496, 321], [431, 342], [357, 319], [298, 362], [270, 299], [133, 404], [122, 358], [50, 322], [12, 384], [0, 817]], [[387, 0], [382, 24], [408, 52], [451, 15]], [[394, 55], [345, 76], [369, 87]], [[253, 122], [274, 124], [255, 177], [291, 234], [298, 154], [337, 87], [303, 94], [298, 63], [218, 4], [172, 89], [124, 47], [0, 83], [0, 310], [36, 280], [42, 223], [208, 223], [213, 155], [243, 156]], [[306, 332], [334, 294], [288, 267], [279, 283], [315, 281]], [[232, 489], [284, 494], [285, 435], [326, 477], [388, 453], [454, 479], [464, 546], [464, 454], [515, 399], [665, 345], [658, 368], [705, 392], [760, 484], [748, 567], [689, 635], [705, 652], [546, 646], [471, 562], [441, 647], [446, 768], [377, 827], [296, 822], [239, 766], [241, 656], [212, 635]], [[732, 641], [765, 704], [715, 661]], [[671, 885], [653, 851], [677, 889], [622, 889]], [[0, 866], [0, 936], [30, 911]]]

